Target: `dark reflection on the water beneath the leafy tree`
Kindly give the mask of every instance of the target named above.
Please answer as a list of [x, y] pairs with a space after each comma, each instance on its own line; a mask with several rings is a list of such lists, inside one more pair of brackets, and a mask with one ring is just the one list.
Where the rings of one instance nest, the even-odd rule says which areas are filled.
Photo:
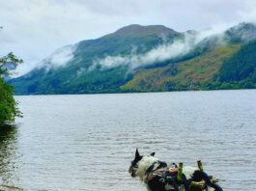
[[0, 178], [1, 184], [13, 185], [17, 164], [17, 128], [15, 125], [0, 127]]

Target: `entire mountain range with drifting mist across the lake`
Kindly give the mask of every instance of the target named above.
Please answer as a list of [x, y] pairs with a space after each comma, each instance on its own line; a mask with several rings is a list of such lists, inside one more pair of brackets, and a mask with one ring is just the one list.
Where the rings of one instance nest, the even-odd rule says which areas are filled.
[[255, 32], [252, 23], [211, 36], [133, 24], [62, 47], [10, 82], [16, 95], [256, 88]]

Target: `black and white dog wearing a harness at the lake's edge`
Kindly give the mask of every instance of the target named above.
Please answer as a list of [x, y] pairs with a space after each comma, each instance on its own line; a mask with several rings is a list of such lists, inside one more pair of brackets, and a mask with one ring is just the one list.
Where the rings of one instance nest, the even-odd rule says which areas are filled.
[[[178, 166], [175, 163], [168, 166], [165, 162], [158, 160], [155, 152], [143, 156], [136, 150], [128, 172], [131, 177], [139, 177], [146, 184], [148, 191], [202, 191], [205, 189], [222, 191], [219, 186], [213, 185], [206, 173], [190, 166], [183, 168], [184, 183], [177, 183]], [[201, 180], [206, 183], [204, 187], [190, 186], [189, 182]]]

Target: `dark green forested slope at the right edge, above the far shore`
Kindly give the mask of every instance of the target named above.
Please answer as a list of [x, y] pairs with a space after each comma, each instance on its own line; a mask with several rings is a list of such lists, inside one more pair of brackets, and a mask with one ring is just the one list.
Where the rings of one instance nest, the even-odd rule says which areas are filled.
[[233, 56], [227, 58], [213, 81], [205, 84], [206, 90], [256, 88], [256, 41], [242, 45]]

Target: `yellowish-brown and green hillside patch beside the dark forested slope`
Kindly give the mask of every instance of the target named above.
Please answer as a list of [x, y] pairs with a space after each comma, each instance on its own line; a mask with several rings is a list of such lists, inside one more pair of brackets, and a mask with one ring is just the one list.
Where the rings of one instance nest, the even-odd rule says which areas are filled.
[[124, 92], [200, 90], [210, 83], [223, 61], [240, 49], [240, 44], [218, 47], [185, 62], [163, 68], [141, 69], [122, 86]]

